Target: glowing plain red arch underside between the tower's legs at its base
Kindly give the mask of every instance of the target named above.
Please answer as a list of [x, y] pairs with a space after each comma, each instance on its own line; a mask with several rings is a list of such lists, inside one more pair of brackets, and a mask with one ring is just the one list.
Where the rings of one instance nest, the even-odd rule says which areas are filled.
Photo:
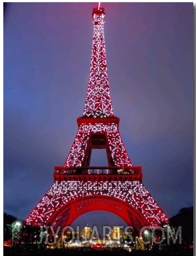
[[138, 210], [130, 207], [126, 202], [108, 196], [86, 196], [74, 200], [67, 204], [64, 209], [57, 211], [48, 224], [51, 223], [55, 228], [58, 226], [61, 226], [61, 228], [71, 226], [72, 222], [80, 215], [97, 210], [116, 214], [127, 223], [127, 226], [133, 227], [135, 231], [148, 225]]

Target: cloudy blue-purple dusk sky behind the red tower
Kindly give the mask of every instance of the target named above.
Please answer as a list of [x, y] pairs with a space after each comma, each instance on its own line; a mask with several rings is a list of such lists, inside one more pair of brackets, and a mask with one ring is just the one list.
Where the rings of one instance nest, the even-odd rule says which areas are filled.
[[[53, 184], [82, 116], [97, 3], [4, 12], [4, 212], [25, 219]], [[133, 165], [168, 217], [193, 205], [193, 3], [101, 3], [111, 100]], [[106, 165], [93, 151], [91, 165]], [[74, 224], [123, 224], [90, 212]]]

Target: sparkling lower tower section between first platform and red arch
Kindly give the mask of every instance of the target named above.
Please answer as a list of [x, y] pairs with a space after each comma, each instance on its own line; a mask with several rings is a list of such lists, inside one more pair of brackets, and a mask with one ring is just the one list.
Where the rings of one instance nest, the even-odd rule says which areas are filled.
[[[154, 201], [150, 193], [139, 181], [134, 182], [54, 182], [49, 191], [45, 194], [37, 207], [26, 219], [28, 224], [47, 224], [54, 213], [63, 212], [66, 204], [77, 198], [86, 196], [107, 196], [126, 202], [135, 209], [135, 212], [142, 213], [149, 223], [154, 227], [161, 222], [167, 222], [168, 218], [162, 209]], [[64, 220], [65, 226], [66, 222]]]

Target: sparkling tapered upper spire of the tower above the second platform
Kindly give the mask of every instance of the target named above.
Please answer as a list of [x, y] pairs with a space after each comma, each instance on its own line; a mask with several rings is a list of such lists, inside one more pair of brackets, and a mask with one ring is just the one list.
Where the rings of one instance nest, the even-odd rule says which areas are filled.
[[93, 8], [93, 46], [83, 117], [113, 117], [106, 65], [104, 8]]

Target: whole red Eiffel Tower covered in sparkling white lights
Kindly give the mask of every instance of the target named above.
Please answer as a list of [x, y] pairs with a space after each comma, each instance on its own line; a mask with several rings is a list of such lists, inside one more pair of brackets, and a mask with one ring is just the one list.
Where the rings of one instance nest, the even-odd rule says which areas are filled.
[[[120, 119], [113, 114], [108, 84], [104, 8], [94, 8], [93, 46], [83, 116], [63, 166], [54, 167], [54, 183], [26, 218], [33, 226], [70, 226], [88, 211], [118, 215], [138, 231], [168, 218], [142, 183], [142, 166], [133, 166], [122, 142]], [[106, 149], [108, 166], [90, 166], [92, 149]]]

